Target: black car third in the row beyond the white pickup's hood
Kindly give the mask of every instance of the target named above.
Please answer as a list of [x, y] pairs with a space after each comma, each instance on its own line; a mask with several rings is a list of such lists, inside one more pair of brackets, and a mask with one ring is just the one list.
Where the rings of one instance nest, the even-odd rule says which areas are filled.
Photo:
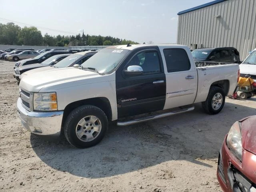
[[25, 60], [16, 62], [14, 68], [21, 67], [24, 65], [29, 65], [29, 64], [42, 63], [43, 61], [45, 61], [46, 59], [48, 59], [54, 55], [67, 54], [67, 53], [72, 53], [72, 52], [69, 52], [69, 51], [46, 51], [34, 58], [25, 59]]

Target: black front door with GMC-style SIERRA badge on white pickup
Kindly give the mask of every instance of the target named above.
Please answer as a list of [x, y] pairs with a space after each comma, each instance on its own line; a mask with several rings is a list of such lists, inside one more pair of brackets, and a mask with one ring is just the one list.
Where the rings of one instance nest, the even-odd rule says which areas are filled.
[[[116, 72], [118, 118], [162, 110], [166, 78], [159, 50], [144, 49], [131, 53]], [[124, 74], [128, 66], [141, 66], [143, 73]]]

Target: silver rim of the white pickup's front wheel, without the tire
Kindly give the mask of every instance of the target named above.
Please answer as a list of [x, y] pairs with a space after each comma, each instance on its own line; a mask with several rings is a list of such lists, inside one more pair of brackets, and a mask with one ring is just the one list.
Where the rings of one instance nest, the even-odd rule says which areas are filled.
[[83, 142], [90, 142], [100, 134], [101, 126], [102, 124], [98, 117], [86, 116], [76, 125], [76, 136]]

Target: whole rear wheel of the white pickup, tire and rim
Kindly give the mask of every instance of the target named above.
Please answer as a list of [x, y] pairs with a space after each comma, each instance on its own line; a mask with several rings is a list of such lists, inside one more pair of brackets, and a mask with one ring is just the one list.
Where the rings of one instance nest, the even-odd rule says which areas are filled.
[[208, 114], [219, 113], [225, 104], [225, 94], [222, 88], [212, 86], [205, 102], [202, 102], [204, 111]]

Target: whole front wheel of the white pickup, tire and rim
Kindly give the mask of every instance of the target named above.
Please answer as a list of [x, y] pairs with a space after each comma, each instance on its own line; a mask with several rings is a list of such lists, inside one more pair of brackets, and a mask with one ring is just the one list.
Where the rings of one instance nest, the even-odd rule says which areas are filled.
[[87, 148], [98, 144], [108, 129], [108, 118], [98, 107], [84, 105], [74, 109], [64, 124], [64, 134], [68, 142], [77, 148]]

